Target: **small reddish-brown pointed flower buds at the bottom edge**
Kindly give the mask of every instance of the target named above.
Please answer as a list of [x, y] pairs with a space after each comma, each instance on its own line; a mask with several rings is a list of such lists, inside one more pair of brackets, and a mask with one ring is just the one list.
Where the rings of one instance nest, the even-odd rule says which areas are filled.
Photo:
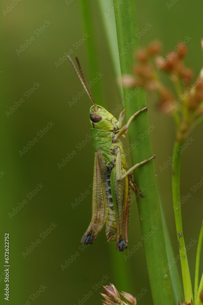
[[[110, 284], [110, 286], [103, 286], [104, 287], [104, 293], [101, 293], [101, 295], [104, 297], [105, 301], [103, 301], [103, 305], [136, 305], [136, 298], [132, 296], [131, 294], [127, 292], [118, 292], [116, 287], [113, 284]], [[125, 303], [121, 300], [120, 295], [128, 302]]]

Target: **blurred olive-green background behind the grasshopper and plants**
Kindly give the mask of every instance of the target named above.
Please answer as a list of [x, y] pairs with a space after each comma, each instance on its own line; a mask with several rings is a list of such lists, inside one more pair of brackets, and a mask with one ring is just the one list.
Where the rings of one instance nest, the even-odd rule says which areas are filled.
[[[120, 291], [124, 290], [138, 296], [140, 305], [151, 304], [143, 246], [132, 257], [125, 259], [126, 251], [116, 253], [115, 244], [107, 242], [104, 228], [93, 245], [84, 249], [80, 243], [91, 220], [89, 185], [93, 178], [94, 154], [91, 141], [83, 142], [80, 150], [77, 145], [85, 141], [90, 134], [88, 114], [91, 103], [84, 95], [72, 107], [69, 106], [68, 102], [78, 94], [77, 91], [82, 91], [82, 86], [67, 60], [57, 67], [55, 63], [59, 63], [59, 58], [64, 56], [64, 52], [73, 49], [72, 58], [79, 57], [86, 79], [90, 79], [87, 40], [78, 48], [75, 44], [85, 33], [81, 3], [77, 0], [66, 2], [27, 0], [18, 3], [16, 1], [2, 0], [1, 5], [0, 171], [4, 174], [0, 178], [0, 303], [6, 303], [3, 279], [4, 234], [9, 232], [11, 305], [29, 304], [28, 301], [43, 305], [78, 305], [79, 300], [90, 291], [92, 291], [91, 296], [89, 298], [86, 296], [82, 303], [85, 301], [85, 304], [100, 304], [99, 292], [103, 292], [102, 285], [107, 285], [109, 282], [114, 283]], [[98, 104], [105, 105], [111, 111], [120, 104], [120, 101], [102, 23], [102, 16], [107, 12], [100, 12], [97, 1], [88, 2], [99, 58], [98, 72], [103, 74], [95, 84], [101, 86], [103, 93]], [[13, 5], [13, 3], [17, 4]], [[161, 0], [136, 1], [140, 30], [145, 28], [146, 23], [152, 25], [140, 38], [140, 44], [144, 46], [158, 38], [163, 42], [163, 54], [165, 54], [189, 35], [192, 39], [188, 43], [189, 54], [186, 63], [194, 68], [197, 76], [203, 64], [200, 46], [202, 2], [186, 0], [184, 3], [182, 1], [174, 3], [168, 8], [167, 2]], [[11, 5], [12, 9], [7, 5]], [[112, 7], [111, 1], [109, 7]], [[47, 27], [43, 28], [45, 20]], [[31, 36], [34, 39], [30, 45], [22, 52], [16, 51]], [[118, 55], [114, 54], [114, 56]], [[31, 89], [34, 82], [40, 84], [34, 87], [36, 90]], [[26, 98], [26, 93], [24, 94], [26, 91], [30, 91], [29, 98]], [[91, 91], [93, 95], [94, 87]], [[10, 106], [13, 107], [22, 98], [24, 102], [21, 105], [19, 103], [17, 109], [15, 106], [13, 113], [6, 114], [12, 111]], [[171, 168], [169, 166], [162, 173], [159, 169], [169, 156], [172, 156], [175, 128], [171, 117], [156, 111], [154, 95], [147, 94], [147, 101], [150, 124], [156, 127], [151, 132], [153, 152], [157, 155], [154, 163], [167, 223], [177, 255], [170, 182]], [[47, 122], [53, 123], [50, 129], [46, 129]], [[40, 132], [43, 129], [44, 134]], [[195, 141], [182, 156], [181, 196], [191, 192], [190, 188], [203, 176], [202, 125], [198, 126], [191, 136]], [[38, 141], [21, 156], [19, 151], [22, 151], [24, 145], [29, 144], [28, 141], [33, 141], [34, 138]], [[125, 148], [128, 148], [128, 139], [123, 142]], [[59, 169], [58, 163], [61, 164], [62, 159], [73, 150], [77, 154]], [[127, 162], [130, 166], [130, 156], [127, 156]], [[27, 194], [36, 189], [37, 184], [40, 183], [43, 185], [42, 189], [37, 193], [34, 191], [34, 197], [29, 197], [32, 198], [29, 200]], [[140, 187], [144, 190], [144, 185]], [[190, 239], [198, 240], [203, 218], [202, 189], [198, 189], [182, 206], [186, 245], [190, 243]], [[76, 199], [86, 191], [88, 193], [86, 198], [79, 199], [80, 203], [73, 208]], [[20, 210], [18, 208], [19, 211], [15, 215], [9, 214], [13, 213], [13, 208], [19, 206], [18, 203], [22, 203], [24, 199], [27, 199], [24, 207]], [[51, 223], [57, 225], [52, 231], [49, 229]], [[40, 243], [36, 246], [37, 239]], [[130, 209], [128, 249], [131, 250], [132, 246], [140, 241], [142, 240], [139, 215], [134, 200]], [[26, 248], [29, 248], [32, 242], [36, 247], [31, 247], [34, 248], [31, 253], [23, 255], [22, 253], [26, 252]], [[192, 281], [194, 281], [196, 248], [197, 244], [188, 251]], [[74, 258], [76, 252], [79, 253], [76, 259], [62, 270], [61, 265], [64, 265], [65, 260], [69, 260], [71, 256]], [[113, 264], [115, 261], [116, 264]], [[177, 264], [180, 265], [179, 262]], [[202, 271], [202, 260], [200, 267]], [[35, 294], [40, 285], [44, 285], [44, 290], [41, 289], [43, 291], [40, 295]], [[142, 289], [148, 291], [140, 298]]]

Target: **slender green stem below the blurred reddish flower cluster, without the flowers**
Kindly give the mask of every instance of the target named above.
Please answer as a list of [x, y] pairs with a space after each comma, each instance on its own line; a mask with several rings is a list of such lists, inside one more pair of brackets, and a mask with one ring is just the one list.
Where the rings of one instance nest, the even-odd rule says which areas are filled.
[[180, 263], [182, 269], [183, 278], [183, 290], [184, 297], [187, 302], [193, 299], [192, 284], [190, 278], [190, 271], [187, 261], [187, 252], [185, 248], [185, 242], [183, 237], [182, 217], [180, 209], [180, 152], [183, 142], [176, 141], [173, 149], [173, 161], [172, 161], [172, 196], [173, 196], [173, 208], [176, 221], [176, 232], [179, 246]]

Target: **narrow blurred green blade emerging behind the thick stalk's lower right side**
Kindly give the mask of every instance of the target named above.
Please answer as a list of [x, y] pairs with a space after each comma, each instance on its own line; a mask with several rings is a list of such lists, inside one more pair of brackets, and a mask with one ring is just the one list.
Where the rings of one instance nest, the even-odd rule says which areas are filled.
[[[159, 189], [159, 187], [158, 187], [158, 189]], [[162, 205], [160, 192], [159, 192], [159, 203], [160, 203], [160, 208], [161, 208], [161, 218], [162, 218], [162, 223], [163, 223], [167, 258], [168, 258], [168, 263], [170, 263], [171, 260], [175, 257], [175, 254], [173, 251], [173, 247], [172, 247], [172, 243], [171, 243], [171, 239], [170, 239], [170, 235], [169, 235], [169, 229], [168, 229], [167, 222], [166, 222], [166, 217], [165, 217], [164, 208]], [[171, 266], [171, 268], [169, 269], [169, 274], [171, 277], [173, 303], [174, 303], [174, 305], [177, 305], [178, 300], [184, 296], [177, 264], [174, 264], [173, 266]]]

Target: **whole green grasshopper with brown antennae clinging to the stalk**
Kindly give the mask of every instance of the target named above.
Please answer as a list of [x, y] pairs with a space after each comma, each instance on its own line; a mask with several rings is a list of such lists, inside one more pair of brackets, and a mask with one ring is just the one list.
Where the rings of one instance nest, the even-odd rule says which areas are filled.
[[147, 110], [147, 106], [143, 106], [143, 109], [133, 114], [127, 124], [121, 128], [125, 109], [117, 120], [106, 109], [97, 105], [90, 93], [78, 58], [76, 57], [76, 61], [81, 75], [69, 56], [68, 59], [93, 102], [89, 111], [89, 124], [95, 152], [92, 220], [81, 242], [85, 245], [92, 244], [106, 222], [107, 239], [108, 241], [116, 241], [116, 250], [121, 252], [128, 247], [129, 186], [134, 192], [138, 192], [140, 197], [144, 197], [140, 194], [140, 190], [132, 178], [132, 171], [154, 159], [155, 155], [127, 170], [120, 139], [121, 136], [125, 138], [124, 133], [127, 133], [129, 124], [142, 111]]

